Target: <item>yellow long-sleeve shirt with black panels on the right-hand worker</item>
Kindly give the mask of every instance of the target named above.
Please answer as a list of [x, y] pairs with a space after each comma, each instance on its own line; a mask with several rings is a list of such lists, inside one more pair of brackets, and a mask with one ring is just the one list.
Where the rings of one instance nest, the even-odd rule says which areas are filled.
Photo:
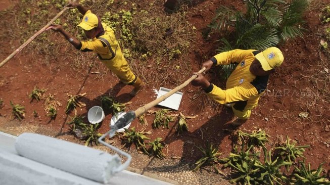
[[240, 111], [256, 107], [268, 82], [268, 75], [255, 76], [250, 72], [257, 53], [256, 50], [232, 50], [214, 56], [211, 61], [216, 65], [238, 65], [226, 82], [226, 90], [211, 84], [205, 89], [207, 95], [220, 104], [235, 103], [234, 108]]

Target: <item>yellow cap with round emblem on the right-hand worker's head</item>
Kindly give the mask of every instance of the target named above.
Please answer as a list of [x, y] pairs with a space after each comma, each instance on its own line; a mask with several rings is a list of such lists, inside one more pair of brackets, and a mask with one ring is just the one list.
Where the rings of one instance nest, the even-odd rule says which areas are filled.
[[278, 48], [271, 47], [258, 53], [256, 55], [256, 59], [258, 59], [261, 63], [262, 69], [268, 71], [280, 66], [284, 60], [284, 57]]

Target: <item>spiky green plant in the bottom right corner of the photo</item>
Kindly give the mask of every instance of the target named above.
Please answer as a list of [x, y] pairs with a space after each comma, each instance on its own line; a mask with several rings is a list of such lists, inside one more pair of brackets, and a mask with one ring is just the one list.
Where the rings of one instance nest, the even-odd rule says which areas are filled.
[[293, 182], [295, 185], [305, 185], [305, 184], [330, 184], [330, 181], [325, 177], [325, 175], [321, 175], [322, 172], [322, 165], [321, 163], [317, 170], [311, 170], [310, 169], [310, 163], [308, 164], [308, 169], [305, 166], [305, 161], [301, 162], [299, 161], [301, 165], [301, 169], [297, 168], [295, 166], [295, 170], [293, 172], [293, 175], [295, 178], [293, 179]]

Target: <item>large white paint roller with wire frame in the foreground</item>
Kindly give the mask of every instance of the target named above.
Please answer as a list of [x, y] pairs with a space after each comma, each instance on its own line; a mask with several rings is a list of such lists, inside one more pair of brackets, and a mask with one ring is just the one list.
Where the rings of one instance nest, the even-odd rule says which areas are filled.
[[100, 150], [36, 133], [19, 135], [15, 149], [25, 158], [102, 183], [110, 183], [111, 177], [125, 169], [131, 161], [129, 154], [117, 148], [115, 151], [127, 157], [124, 164], [117, 154], [110, 155]]

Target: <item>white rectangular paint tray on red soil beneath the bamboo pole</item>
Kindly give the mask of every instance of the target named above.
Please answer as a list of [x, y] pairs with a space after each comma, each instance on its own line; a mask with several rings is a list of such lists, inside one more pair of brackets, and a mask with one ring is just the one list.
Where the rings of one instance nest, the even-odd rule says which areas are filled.
[[[157, 98], [161, 97], [162, 95], [165, 95], [170, 90], [171, 89], [165, 87], [160, 87]], [[181, 98], [182, 98], [182, 92], [175, 92], [173, 95], [171, 95], [166, 100], [159, 103], [158, 105], [168, 107], [170, 109], [178, 110], [181, 103]]]

